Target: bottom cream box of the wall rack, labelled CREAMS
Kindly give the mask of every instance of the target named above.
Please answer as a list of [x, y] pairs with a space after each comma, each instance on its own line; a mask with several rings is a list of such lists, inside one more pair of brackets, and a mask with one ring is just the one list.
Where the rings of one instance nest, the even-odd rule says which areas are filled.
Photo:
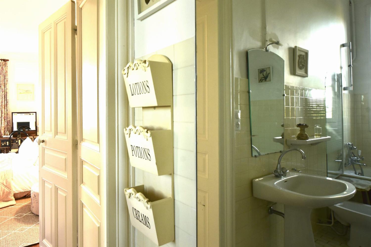
[[161, 246], [174, 240], [174, 199], [150, 201], [144, 185], [125, 188], [131, 224]]

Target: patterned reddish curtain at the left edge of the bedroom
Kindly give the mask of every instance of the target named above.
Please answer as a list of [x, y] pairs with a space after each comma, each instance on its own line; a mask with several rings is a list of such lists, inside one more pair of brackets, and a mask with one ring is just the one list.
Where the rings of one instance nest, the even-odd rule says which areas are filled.
[[0, 60], [0, 136], [10, 131], [11, 117], [8, 98], [8, 62]]

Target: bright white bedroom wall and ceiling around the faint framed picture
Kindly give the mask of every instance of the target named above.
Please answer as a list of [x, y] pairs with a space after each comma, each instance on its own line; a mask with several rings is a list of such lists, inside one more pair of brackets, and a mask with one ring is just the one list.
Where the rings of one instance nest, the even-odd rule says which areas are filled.
[[[0, 0], [0, 58], [9, 59], [9, 110], [40, 109], [39, 24], [68, 0]], [[17, 101], [17, 83], [34, 84], [35, 100]]]

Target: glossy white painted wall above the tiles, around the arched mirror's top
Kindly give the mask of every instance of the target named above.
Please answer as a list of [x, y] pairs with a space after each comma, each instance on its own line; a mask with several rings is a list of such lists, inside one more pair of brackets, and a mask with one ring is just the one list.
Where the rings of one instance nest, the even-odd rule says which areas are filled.
[[[235, 77], [247, 78], [246, 50], [264, 48], [272, 37], [283, 44], [270, 50], [285, 60], [285, 83], [324, 89], [326, 74], [341, 71], [339, 47], [349, 41], [348, 27], [347, 0], [233, 0]], [[308, 78], [293, 75], [295, 46], [309, 50]]]

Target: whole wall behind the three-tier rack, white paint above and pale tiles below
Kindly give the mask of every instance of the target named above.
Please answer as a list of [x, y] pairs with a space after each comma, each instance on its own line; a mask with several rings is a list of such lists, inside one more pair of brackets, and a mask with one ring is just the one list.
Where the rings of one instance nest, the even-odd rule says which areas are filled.
[[[194, 0], [176, 0], [134, 22], [135, 58], [156, 53], [173, 63], [175, 240], [168, 247], [197, 246], [195, 35]], [[141, 108], [135, 109], [135, 125], [142, 124], [141, 117]], [[135, 184], [142, 180], [136, 168]], [[155, 246], [139, 231], [135, 236], [137, 247]]]

